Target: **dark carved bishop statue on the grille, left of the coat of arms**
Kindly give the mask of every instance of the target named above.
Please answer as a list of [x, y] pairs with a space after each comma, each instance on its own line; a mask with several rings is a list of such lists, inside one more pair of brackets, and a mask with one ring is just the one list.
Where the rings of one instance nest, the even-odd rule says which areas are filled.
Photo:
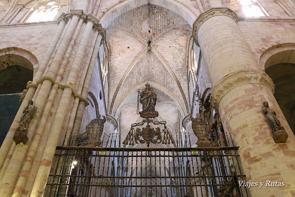
[[96, 116], [87, 126], [86, 132], [81, 133], [77, 137], [78, 145], [88, 145], [88, 146], [100, 146], [101, 145], [101, 135], [104, 130], [104, 123], [106, 122], [106, 117], [103, 115], [103, 119], [100, 118], [100, 114]]

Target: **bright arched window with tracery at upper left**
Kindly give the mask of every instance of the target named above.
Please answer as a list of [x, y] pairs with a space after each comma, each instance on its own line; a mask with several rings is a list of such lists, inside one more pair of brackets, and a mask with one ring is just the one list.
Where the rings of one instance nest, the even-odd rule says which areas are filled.
[[55, 18], [59, 9], [60, 7], [56, 5], [56, 2], [51, 1], [36, 9], [26, 22], [51, 21]]

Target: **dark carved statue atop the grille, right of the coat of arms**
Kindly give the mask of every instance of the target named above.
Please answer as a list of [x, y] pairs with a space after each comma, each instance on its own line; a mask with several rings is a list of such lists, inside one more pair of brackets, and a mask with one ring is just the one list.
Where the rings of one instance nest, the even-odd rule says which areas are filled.
[[211, 141], [208, 139], [209, 126], [203, 124], [201, 114], [197, 113], [196, 118], [193, 118], [191, 114], [191, 128], [194, 131], [195, 136], [198, 138], [197, 145], [199, 147], [209, 147]]

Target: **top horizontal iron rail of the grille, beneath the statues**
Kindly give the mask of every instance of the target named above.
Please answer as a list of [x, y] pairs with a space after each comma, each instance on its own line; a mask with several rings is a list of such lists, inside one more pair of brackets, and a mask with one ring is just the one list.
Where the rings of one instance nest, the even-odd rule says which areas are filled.
[[160, 148], [160, 147], [131, 147], [131, 148], [112, 148], [112, 147], [85, 147], [85, 146], [56, 146], [57, 150], [94, 150], [94, 151], [126, 151], [126, 152], [140, 152], [140, 151], [209, 151], [209, 150], [238, 150], [240, 146], [231, 147], [187, 147], [187, 148]]

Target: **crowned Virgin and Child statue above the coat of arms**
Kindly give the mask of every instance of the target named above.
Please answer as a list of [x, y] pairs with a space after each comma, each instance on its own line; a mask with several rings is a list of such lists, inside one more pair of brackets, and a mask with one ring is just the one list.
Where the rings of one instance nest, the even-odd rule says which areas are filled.
[[158, 112], [155, 111], [155, 105], [157, 101], [157, 95], [153, 92], [153, 88], [150, 84], [145, 84], [145, 89], [141, 92], [137, 90], [140, 95], [139, 102], [142, 104], [142, 111], [140, 116], [142, 118], [155, 118], [158, 117]]

